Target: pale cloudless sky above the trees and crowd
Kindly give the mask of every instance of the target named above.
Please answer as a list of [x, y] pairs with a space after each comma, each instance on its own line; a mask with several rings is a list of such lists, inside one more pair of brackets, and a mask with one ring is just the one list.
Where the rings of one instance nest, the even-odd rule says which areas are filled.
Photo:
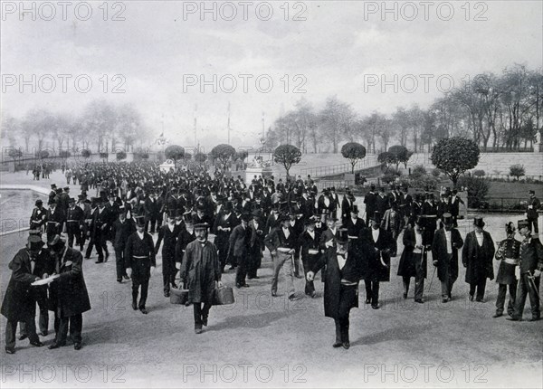
[[[32, 14], [23, 14], [19, 9], [18, 1], [3, 2], [2, 109], [14, 116], [22, 116], [33, 108], [78, 113], [94, 99], [115, 104], [132, 102], [154, 134], [160, 134], [164, 123], [166, 136], [172, 142], [194, 146], [197, 104], [198, 141], [206, 149], [227, 140], [229, 102], [233, 146], [255, 146], [262, 134], [262, 111], [268, 128], [281, 107], [288, 111], [301, 97], [319, 108], [327, 97], [337, 95], [361, 114], [374, 109], [389, 113], [397, 106], [409, 107], [414, 103], [425, 107], [441, 95], [435, 81], [440, 76], [441, 86], [446, 89], [449, 77], [460, 83], [465, 74], [500, 73], [514, 62], [538, 69], [543, 62], [540, 1], [452, 1], [445, 5], [429, 2], [428, 20], [424, 2], [386, 2], [389, 8], [397, 7], [397, 21], [393, 13], [381, 14], [381, 1], [289, 2], [288, 21], [281, 9], [283, 1], [269, 3], [273, 14], [268, 21], [255, 14], [260, 5], [261, 18], [265, 16], [266, 5], [262, 2], [249, 2], [252, 4], [248, 6], [246, 21], [240, 2], [231, 3], [238, 12], [233, 21], [224, 20], [221, 13], [217, 13], [216, 21], [212, 14], [205, 14], [201, 20], [199, 1], [119, 2], [115, 8], [114, 2], [110, 2], [107, 21], [100, 9], [102, 2], [89, 2], [92, 16], [83, 21], [80, 19], [85, 16], [85, 8], [80, 5], [78, 18], [74, 8], [80, 2], [70, 3], [65, 21], [62, 6], [50, 3], [56, 15], [52, 21], [46, 21], [43, 18], [49, 16], [52, 8], [28, 2], [27, 7], [36, 6], [33, 21]], [[205, 4], [217, 10], [223, 5]], [[418, 16], [414, 21], [405, 20], [412, 15], [412, 5]], [[198, 9], [195, 14], [186, 14], [184, 20], [184, 6]], [[379, 8], [376, 14], [369, 14], [375, 7]], [[454, 14], [451, 20], [444, 20], [450, 8]], [[224, 18], [231, 14], [231, 9], [223, 5]], [[117, 11], [122, 11], [124, 21], [110, 20]], [[291, 20], [299, 11], [307, 20]], [[477, 14], [487, 20], [474, 20]], [[469, 20], [465, 20], [466, 16]], [[33, 93], [30, 86], [25, 86], [20, 92], [18, 84], [11, 86], [7, 81], [13, 81], [11, 75], [21, 74], [25, 80], [31, 80], [32, 74], [37, 80], [52, 74], [56, 88], [44, 93], [38, 85]], [[71, 75], [66, 93], [62, 92], [58, 74]], [[92, 81], [88, 93], [74, 88], [73, 80], [81, 74]], [[117, 83], [113, 81], [108, 92], [103, 93], [103, 74], [110, 79], [115, 74], [123, 75], [126, 82], [122, 89], [126, 93], [111, 93]], [[216, 93], [211, 86], [202, 93], [199, 85], [187, 86], [184, 91], [184, 75], [190, 74], [203, 74], [206, 80], [212, 80], [214, 74], [218, 79], [232, 74], [238, 85], [233, 93], [221, 90], [220, 85]], [[239, 74], [252, 75], [248, 93], [243, 92]], [[285, 74], [290, 79], [286, 93], [281, 81]], [[293, 79], [297, 74], [307, 81], [302, 87], [305, 93], [292, 93], [300, 83], [300, 79]], [[398, 81], [405, 81], [404, 90], [400, 85], [397, 93], [393, 85], [386, 86], [383, 93], [380, 83], [365, 84], [372, 75], [377, 80], [384, 75], [386, 80], [393, 81], [395, 74]], [[428, 91], [424, 90], [421, 74], [433, 77]], [[274, 84], [270, 92], [256, 89], [254, 80], [259, 75], [271, 77]], [[408, 93], [413, 79], [418, 81], [418, 88]], [[45, 83], [43, 88], [48, 85]], [[265, 88], [266, 82], [261, 85]], [[84, 86], [81, 81], [81, 87]], [[229, 88], [230, 83], [224, 87]]]

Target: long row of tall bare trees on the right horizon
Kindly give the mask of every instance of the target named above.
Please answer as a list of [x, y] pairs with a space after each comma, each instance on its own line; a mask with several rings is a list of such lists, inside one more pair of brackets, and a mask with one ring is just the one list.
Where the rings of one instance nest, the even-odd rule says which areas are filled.
[[[275, 120], [263, 144], [270, 148], [292, 144], [303, 153], [338, 153], [338, 145], [348, 141], [376, 153], [377, 142], [386, 150], [395, 139], [416, 152], [440, 139], [460, 136], [472, 139], [483, 151], [487, 147], [515, 150], [532, 146], [542, 128], [542, 113], [543, 72], [515, 64], [500, 75], [485, 72], [462, 81], [427, 109], [398, 107], [391, 115], [378, 110], [361, 115], [337, 97], [317, 110], [302, 99]], [[324, 145], [329, 149], [321, 149]]]

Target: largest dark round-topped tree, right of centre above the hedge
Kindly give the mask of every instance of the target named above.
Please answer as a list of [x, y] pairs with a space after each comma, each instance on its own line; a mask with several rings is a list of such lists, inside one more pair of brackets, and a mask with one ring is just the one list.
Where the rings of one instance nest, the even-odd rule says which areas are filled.
[[479, 163], [479, 147], [471, 139], [453, 137], [441, 139], [432, 151], [432, 163], [443, 170], [456, 186], [458, 177]]

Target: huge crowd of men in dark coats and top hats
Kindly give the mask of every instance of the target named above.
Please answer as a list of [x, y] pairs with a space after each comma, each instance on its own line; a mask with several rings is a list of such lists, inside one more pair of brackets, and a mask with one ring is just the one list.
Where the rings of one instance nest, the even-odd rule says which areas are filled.
[[[132, 308], [143, 314], [148, 314], [149, 278], [161, 253], [164, 296], [169, 297], [172, 289], [188, 290], [197, 334], [207, 325], [222, 274], [235, 270], [235, 286], [250, 287], [251, 280], [259, 278], [267, 249], [272, 262], [271, 296], [278, 294], [282, 269], [289, 299], [300, 299], [295, 278], [304, 278], [305, 294], [315, 298], [315, 275], [321, 271], [325, 315], [336, 322], [334, 346], [348, 348], [348, 315], [358, 304], [358, 284], [364, 280], [366, 303], [380, 308], [379, 286], [390, 280], [391, 258], [400, 252], [397, 239], [402, 234], [397, 275], [403, 279], [404, 299], [414, 278], [414, 301], [424, 303], [430, 252], [443, 303], [452, 299], [460, 259], [470, 284], [469, 299], [483, 301], [486, 280], [494, 278], [496, 258], [501, 262], [495, 317], [502, 315], [509, 285], [510, 319], [522, 318], [527, 294], [532, 319], [540, 318], [543, 246], [537, 234], [531, 234], [538, 231], [540, 207], [532, 193], [529, 218], [517, 225], [522, 242], [514, 239], [515, 225], [508, 223], [508, 238], [495, 251], [481, 218], [474, 219], [473, 231], [462, 239], [456, 227], [463, 202], [456, 190], [448, 188], [436, 199], [431, 192], [412, 195], [407, 187], [393, 185], [386, 193], [385, 188], [371, 185], [363, 200], [364, 218], [362, 204], [348, 188], [341, 198], [335, 187], [319, 193], [310, 176], [286, 183], [255, 176], [246, 183], [240, 176], [220, 172], [213, 177], [205, 171], [162, 172], [152, 163], [80, 165], [69, 172], [81, 193], [75, 198], [70, 186], [52, 185], [48, 209], [36, 201], [27, 247], [10, 263], [13, 275], [2, 307], [8, 318], [8, 354], [14, 353], [17, 322], [24, 328], [21, 337], [41, 346], [34, 322], [36, 303], [42, 335], [47, 332], [47, 310], [55, 314], [57, 336], [50, 348], [65, 345], [68, 326], [74, 347], [81, 348], [81, 314], [90, 309], [82, 253], [90, 259], [95, 250], [96, 263], [108, 261], [108, 242], [115, 253], [116, 280], [131, 281]], [[47, 284], [31, 286], [39, 280]]]

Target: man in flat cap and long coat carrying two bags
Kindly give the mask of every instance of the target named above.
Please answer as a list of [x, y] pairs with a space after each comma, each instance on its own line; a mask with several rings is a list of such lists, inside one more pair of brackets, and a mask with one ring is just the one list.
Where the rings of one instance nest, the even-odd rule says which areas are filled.
[[208, 227], [206, 223], [195, 224], [196, 239], [186, 245], [179, 267], [180, 287], [188, 289], [187, 302], [194, 307], [196, 334], [207, 326], [214, 289], [223, 286], [217, 249], [207, 240]]

